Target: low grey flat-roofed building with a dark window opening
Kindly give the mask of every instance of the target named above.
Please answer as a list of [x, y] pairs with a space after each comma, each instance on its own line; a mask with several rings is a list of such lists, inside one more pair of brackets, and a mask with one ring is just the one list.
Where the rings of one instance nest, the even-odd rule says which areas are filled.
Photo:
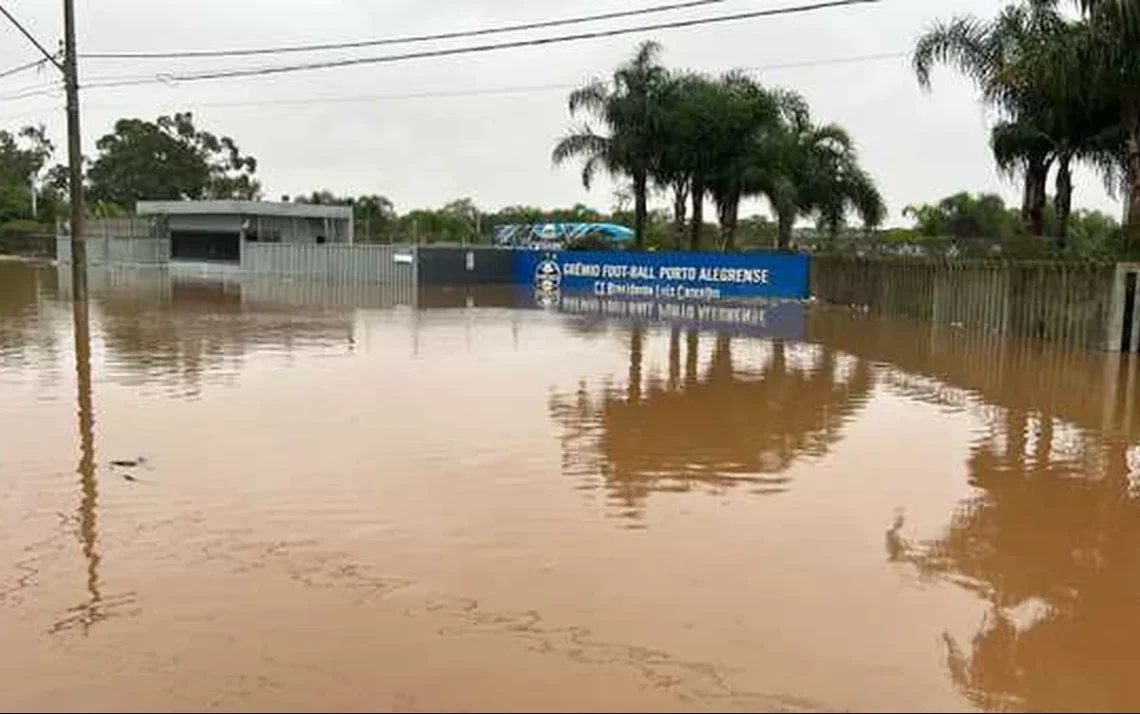
[[352, 206], [264, 201], [139, 201], [139, 216], [158, 219], [170, 259], [242, 262], [247, 243], [352, 243]]

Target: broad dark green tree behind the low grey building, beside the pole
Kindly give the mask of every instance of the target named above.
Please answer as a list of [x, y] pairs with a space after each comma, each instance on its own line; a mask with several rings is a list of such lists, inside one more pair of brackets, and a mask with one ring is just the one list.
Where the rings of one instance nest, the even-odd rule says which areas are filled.
[[96, 143], [88, 171], [92, 201], [133, 205], [146, 200], [252, 200], [261, 194], [258, 162], [229, 137], [194, 125], [189, 112], [154, 122], [121, 119]]

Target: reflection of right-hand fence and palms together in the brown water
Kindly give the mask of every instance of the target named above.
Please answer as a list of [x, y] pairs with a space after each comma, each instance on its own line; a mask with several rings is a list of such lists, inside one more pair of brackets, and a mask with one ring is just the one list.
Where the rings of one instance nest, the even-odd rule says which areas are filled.
[[[926, 357], [901, 350], [906, 358], [927, 360], [927, 374], [961, 371], [969, 376], [959, 383], [972, 382], [972, 390], [923, 389], [897, 374], [883, 380], [903, 383], [911, 398], [970, 408], [983, 424], [966, 463], [974, 494], [958, 504], [936, 538], [906, 538], [899, 517], [887, 532], [887, 558], [987, 603], [972, 636], [944, 636], [947, 674], [974, 706], [1135, 711], [1137, 365], [1036, 344], [984, 342], [947, 335], [928, 340], [920, 348]], [[950, 354], [958, 355], [956, 370]], [[1004, 379], [987, 376], [979, 363]], [[1082, 389], [1073, 391], [1073, 383]], [[978, 400], [979, 392], [986, 403]]]

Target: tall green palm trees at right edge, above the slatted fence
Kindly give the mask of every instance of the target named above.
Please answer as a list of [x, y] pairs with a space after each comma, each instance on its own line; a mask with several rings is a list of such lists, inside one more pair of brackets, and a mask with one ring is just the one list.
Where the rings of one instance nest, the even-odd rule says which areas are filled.
[[[1080, 19], [1056, 0], [1020, 0], [993, 21], [936, 24], [914, 51], [919, 82], [950, 65], [974, 80], [993, 107], [991, 146], [1000, 170], [1024, 178], [1020, 219], [1034, 236], [1069, 234], [1073, 165], [1098, 170], [1130, 196], [1126, 234], [1140, 245], [1140, 30], [1137, 0], [1080, 0]], [[1047, 226], [1047, 186], [1056, 168]]]

